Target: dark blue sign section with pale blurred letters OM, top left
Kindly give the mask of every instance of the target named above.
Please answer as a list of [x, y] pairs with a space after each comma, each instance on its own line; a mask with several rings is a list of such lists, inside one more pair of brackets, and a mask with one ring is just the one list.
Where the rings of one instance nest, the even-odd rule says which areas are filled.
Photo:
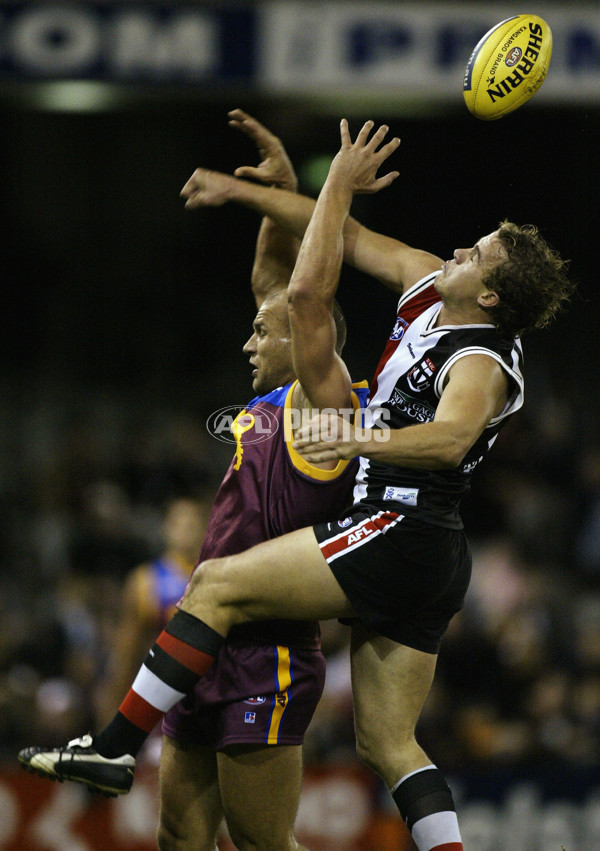
[[254, 20], [244, 6], [0, 2], [0, 78], [248, 80]]

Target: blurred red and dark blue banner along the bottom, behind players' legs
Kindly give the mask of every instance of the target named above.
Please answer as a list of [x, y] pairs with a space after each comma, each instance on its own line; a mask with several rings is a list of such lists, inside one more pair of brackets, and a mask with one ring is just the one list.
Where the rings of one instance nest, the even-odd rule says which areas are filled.
[[[490, 770], [449, 776], [465, 851], [600, 848], [600, 772]], [[0, 767], [0, 851], [152, 851], [157, 769], [140, 767], [128, 795], [106, 799]], [[374, 774], [362, 764], [305, 771], [296, 835], [313, 851], [416, 851]], [[234, 851], [224, 833], [219, 851]]]

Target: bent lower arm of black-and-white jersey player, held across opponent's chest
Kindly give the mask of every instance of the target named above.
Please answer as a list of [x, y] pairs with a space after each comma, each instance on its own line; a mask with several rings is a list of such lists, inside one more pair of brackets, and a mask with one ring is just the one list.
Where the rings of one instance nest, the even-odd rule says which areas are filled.
[[494, 358], [468, 355], [450, 369], [432, 422], [402, 429], [357, 429], [322, 415], [296, 434], [297, 451], [311, 463], [366, 458], [426, 470], [457, 467], [508, 399], [508, 378]]

